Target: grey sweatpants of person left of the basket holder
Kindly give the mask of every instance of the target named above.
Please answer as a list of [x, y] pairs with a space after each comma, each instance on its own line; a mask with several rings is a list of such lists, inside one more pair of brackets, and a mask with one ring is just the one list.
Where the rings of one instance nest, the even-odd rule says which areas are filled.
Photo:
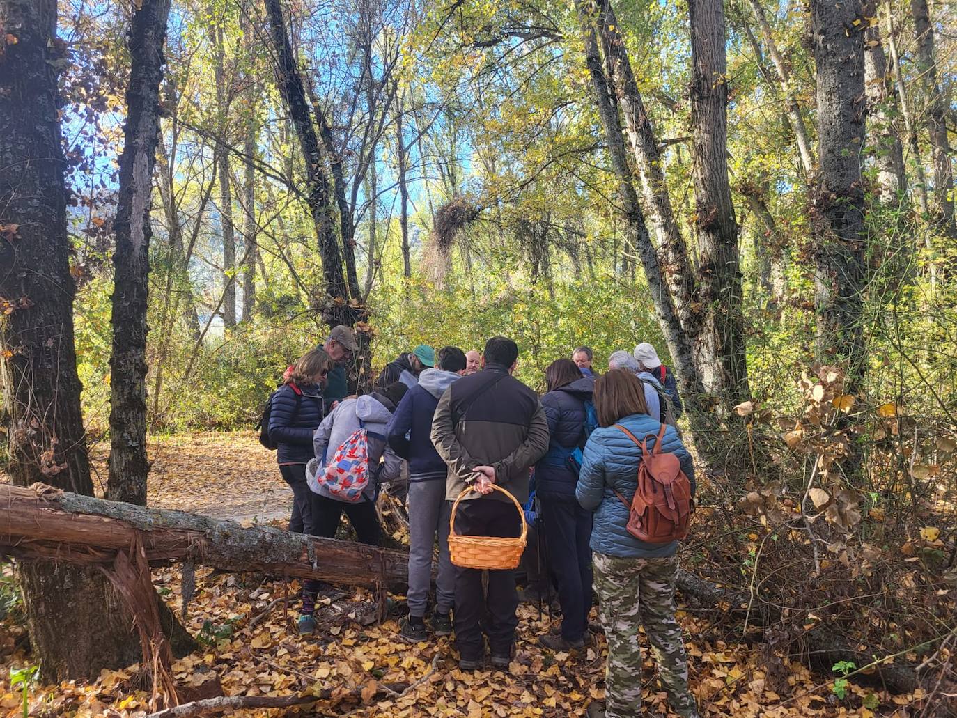
[[424, 617], [432, 587], [432, 558], [438, 534], [438, 576], [435, 579], [435, 609], [452, 610], [456, 600], [456, 575], [449, 558], [449, 513], [445, 482], [409, 484], [409, 613]]

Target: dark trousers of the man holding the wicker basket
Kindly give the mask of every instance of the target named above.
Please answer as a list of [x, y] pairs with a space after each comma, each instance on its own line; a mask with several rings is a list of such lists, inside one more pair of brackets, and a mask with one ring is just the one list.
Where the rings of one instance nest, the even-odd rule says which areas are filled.
[[[456, 510], [456, 533], [466, 536], [514, 538], [522, 527], [515, 506], [495, 499], [463, 501]], [[484, 653], [479, 622], [494, 656], [511, 654], [519, 619], [515, 610], [519, 594], [515, 590], [515, 572], [489, 571], [488, 595], [483, 595], [482, 572], [456, 566], [456, 648], [466, 661], [480, 660]]]

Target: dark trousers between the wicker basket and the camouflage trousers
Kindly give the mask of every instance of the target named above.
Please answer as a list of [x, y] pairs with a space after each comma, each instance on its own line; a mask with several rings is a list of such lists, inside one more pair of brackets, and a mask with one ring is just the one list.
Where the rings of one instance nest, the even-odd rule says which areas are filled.
[[558, 584], [562, 638], [585, 635], [591, 609], [591, 512], [573, 496], [539, 496], [548, 569]]

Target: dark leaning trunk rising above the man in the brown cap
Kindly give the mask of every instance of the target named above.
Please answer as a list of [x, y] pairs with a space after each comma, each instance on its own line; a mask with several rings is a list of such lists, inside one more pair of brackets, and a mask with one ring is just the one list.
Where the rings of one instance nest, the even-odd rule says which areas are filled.
[[[348, 315], [348, 288], [345, 285], [343, 256], [339, 251], [335, 228], [332, 222], [329, 184], [324, 173], [323, 155], [319, 138], [312, 124], [309, 104], [305, 97], [299, 69], [293, 49], [286, 34], [285, 20], [279, 0], [265, 0], [269, 14], [270, 32], [276, 53], [276, 79], [279, 94], [289, 111], [290, 118], [299, 139], [302, 159], [305, 165], [306, 187], [309, 211], [313, 227], [319, 241], [320, 256], [323, 259], [323, 280], [325, 281], [326, 301], [323, 307], [323, 319], [329, 325], [352, 324]], [[338, 302], [337, 302], [338, 300]]]

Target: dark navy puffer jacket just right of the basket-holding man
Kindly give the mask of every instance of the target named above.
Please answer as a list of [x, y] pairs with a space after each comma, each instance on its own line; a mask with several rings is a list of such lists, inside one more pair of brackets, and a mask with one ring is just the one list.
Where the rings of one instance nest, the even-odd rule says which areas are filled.
[[535, 490], [540, 496], [574, 498], [578, 476], [568, 455], [585, 431], [585, 402], [591, 400], [595, 380], [583, 376], [542, 397], [548, 419], [548, 453], [535, 466]]

